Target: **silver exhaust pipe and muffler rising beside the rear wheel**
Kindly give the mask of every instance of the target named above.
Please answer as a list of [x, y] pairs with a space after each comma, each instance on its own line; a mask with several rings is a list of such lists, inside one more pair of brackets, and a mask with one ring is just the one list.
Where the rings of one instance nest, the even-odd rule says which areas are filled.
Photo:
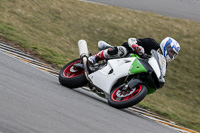
[[78, 41], [78, 49], [79, 49], [79, 55], [83, 61], [85, 77], [89, 81], [89, 83], [93, 86], [93, 82], [88, 77], [89, 71], [88, 71], [87, 61], [88, 61], [89, 51], [88, 51], [88, 47], [87, 47], [87, 42], [85, 40], [79, 40]]

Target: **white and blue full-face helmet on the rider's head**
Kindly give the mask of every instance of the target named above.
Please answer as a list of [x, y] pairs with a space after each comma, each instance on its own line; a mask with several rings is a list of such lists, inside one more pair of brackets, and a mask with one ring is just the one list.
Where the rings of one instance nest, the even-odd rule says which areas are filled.
[[180, 51], [179, 43], [171, 37], [162, 40], [160, 48], [167, 62], [174, 60]]

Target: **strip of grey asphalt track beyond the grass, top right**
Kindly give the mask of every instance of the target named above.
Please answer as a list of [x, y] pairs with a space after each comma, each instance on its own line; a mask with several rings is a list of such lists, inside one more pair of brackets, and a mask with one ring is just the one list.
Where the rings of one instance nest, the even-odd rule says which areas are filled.
[[200, 0], [83, 0], [200, 22]]

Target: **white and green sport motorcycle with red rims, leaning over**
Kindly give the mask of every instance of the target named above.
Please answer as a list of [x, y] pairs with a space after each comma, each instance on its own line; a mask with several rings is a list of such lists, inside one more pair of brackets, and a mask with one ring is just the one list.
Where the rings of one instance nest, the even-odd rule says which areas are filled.
[[151, 56], [130, 54], [91, 65], [87, 42], [79, 40], [78, 48], [80, 58], [61, 69], [59, 82], [70, 89], [86, 86], [106, 98], [112, 107], [133, 106], [165, 83], [166, 61], [158, 51], [152, 50]]

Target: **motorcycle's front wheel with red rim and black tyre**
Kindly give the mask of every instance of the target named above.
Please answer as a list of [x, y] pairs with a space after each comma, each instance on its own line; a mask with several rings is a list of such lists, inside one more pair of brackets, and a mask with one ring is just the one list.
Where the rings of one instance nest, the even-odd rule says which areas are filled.
[[116, 88], [110, 93], [108, 103], [110, 106], [118, 109], [127, 108], [142, 101], [147, 92], [148, 89], [143, 84], [138, 84], [126, 91]]

